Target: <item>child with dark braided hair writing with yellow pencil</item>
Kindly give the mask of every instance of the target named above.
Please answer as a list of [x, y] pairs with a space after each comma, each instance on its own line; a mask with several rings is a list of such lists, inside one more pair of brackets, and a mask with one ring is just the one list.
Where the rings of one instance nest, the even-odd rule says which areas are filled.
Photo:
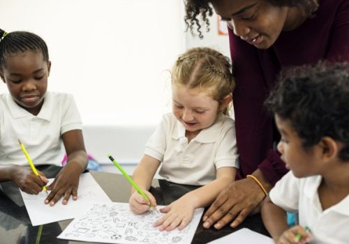
[[0, 29], [0, 77], [9, 93], [0, 94], [0, 182], [13, 181], [21, 190], [38, 195], [48, 180], [36, 176], [18, 144], [26, 146], [35, 165], [67, 165], [59, 171], [45, 199], [54, 204], [70, 195], [77, 200], [80, 174], [87, 167], [82, 121], [71, 95], [47, 92], [51, 62], [45, 41], [34, 33]]

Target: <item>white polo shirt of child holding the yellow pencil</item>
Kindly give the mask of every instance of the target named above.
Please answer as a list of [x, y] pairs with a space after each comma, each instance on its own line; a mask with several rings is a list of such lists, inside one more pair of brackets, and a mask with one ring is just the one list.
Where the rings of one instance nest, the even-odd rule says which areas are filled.
[[35, 165], [60, 165], [64, 156], [61, 135], [69, 130], [82, 130], [73, 96], [47, 92], [34, 116], [10, 94], [0, 95], [0, 165], [28, 165], [18, 139]]

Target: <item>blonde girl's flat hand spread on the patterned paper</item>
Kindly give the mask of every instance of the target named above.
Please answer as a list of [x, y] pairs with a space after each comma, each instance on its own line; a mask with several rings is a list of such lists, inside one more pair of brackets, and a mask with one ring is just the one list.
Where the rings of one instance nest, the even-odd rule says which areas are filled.
[[179, 231], [184, 229], [191, 222], [195, 211], [193, 201], [184, 195], [172, 204], [160, 209], [161, 213], [166, 213], [154, 223], [154, 227], [159, 227], [160, 231], [172, 231], [178, 227]]

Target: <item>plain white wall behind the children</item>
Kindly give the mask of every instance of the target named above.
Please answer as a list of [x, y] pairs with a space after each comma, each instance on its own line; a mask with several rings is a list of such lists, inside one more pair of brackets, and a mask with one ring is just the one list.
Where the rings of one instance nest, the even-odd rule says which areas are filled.
[[[0, 28], [32, 31], [47, 43], [49, 90], [73, 93], [87, 151], [138, 162], [144, 144], [170, 112], [168, 70], [187, 47], [226, 55], [216, 15], [205, 38], [184, 32], [181, 0], [0, 0]], [[7, 92], [1, 82], [0, 92]]]

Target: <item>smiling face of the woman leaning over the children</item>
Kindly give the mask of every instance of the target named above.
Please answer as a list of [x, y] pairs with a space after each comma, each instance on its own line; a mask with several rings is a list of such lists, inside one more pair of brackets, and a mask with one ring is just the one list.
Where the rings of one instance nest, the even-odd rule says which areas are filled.
[[265, 0], [214, 0], [214, 10], [235, 35], [259, 49], [271, 47], [285, 29], [288, 8]]

